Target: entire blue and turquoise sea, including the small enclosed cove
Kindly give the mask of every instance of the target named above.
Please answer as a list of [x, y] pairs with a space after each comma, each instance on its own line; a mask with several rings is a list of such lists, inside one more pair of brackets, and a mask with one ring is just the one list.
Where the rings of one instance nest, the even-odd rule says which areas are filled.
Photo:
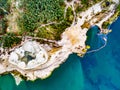
[[[83, 58], [76, 54], [56, 69], [45, 80], [22, 81], [15, 84], [8, 74], [0, 77], [0, 90], [120, 90], [120, 18], [110, 26], [105, 48], [86, 54]], [[87, 44], [91, 50], [103, 46], [105, 41], [97, 27], [88, 32]], [[104, 36], [102, 36], [104, 37]], [[90, 50], [89, 50], [90, 51]]]

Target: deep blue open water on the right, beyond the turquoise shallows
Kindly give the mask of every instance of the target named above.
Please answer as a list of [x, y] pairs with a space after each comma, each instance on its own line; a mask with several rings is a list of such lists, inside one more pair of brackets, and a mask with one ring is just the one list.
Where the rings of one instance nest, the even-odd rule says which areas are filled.
[[81, 60], [85, 77], [83, 90], [120, 90], [120, 17], [109, 28], [112, 32], [107, 35], [106, 47]]

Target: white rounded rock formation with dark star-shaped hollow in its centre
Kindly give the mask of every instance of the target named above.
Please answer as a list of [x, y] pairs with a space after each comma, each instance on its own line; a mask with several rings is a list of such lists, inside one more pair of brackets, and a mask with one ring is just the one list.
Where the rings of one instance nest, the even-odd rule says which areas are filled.
[[48, 60], [47, 52], [35, 41], [27, 41], [10, 53], [8, 61], [22, 69], [32, 69]]

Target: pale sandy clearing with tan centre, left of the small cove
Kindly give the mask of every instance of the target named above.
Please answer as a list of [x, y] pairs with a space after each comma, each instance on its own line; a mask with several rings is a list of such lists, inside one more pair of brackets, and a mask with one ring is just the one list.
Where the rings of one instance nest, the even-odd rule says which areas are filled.
[[71, 26], [66, 29], [66, 31], [62, 34], [62, 40], [59, 44], [63, 47], [69, 48], [71, 52], [85, 54], [86, 52], [86, 32], [87, 28], [82, 29], [80, 27], [79, 20], [78, 23], [74, 26]]

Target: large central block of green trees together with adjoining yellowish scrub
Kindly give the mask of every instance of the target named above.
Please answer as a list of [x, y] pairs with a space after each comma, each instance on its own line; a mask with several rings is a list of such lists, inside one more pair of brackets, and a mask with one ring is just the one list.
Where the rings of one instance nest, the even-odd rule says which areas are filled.
[[[21, 17], [17, 20], [23, 33], [40, 38], [59, 40], [61, 33], [73, 21], [73, 11], [68, 8], [64, 18], [64, 0], [24, 0]], [[55, 22], [55, 24], [41, 27], [42, 24]]]

